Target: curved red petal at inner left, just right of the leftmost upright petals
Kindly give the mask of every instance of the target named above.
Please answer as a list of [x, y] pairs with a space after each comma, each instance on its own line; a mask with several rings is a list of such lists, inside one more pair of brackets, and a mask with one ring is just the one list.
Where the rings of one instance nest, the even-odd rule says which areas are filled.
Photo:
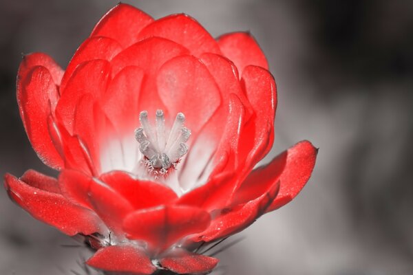
[[87, 61], [76, 67], [67, 82], [67, 92], [61, 96], [56, 107], [56, 115], [69, 133], [73, 133], [76, 104], [85, 94], [100, 98], [106, 91], [110, 70], [109, 63], [104, 60]]

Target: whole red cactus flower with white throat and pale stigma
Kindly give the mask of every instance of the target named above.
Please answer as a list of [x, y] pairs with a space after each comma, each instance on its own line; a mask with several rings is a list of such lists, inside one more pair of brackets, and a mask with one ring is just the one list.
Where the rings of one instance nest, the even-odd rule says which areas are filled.
[[276, 87], [253, 37], [214, 40], [185, 14], [154, 21], [120, 3], [63, 71], [23, 58], [21, 119], [58, 179], [5, 176], [10, 197], [61, 232], [85, 236], [108, 272], [209, 272], [200, 245], [293, 199], [317, 149], [299, 142], [253, 170], [273, 144]]

